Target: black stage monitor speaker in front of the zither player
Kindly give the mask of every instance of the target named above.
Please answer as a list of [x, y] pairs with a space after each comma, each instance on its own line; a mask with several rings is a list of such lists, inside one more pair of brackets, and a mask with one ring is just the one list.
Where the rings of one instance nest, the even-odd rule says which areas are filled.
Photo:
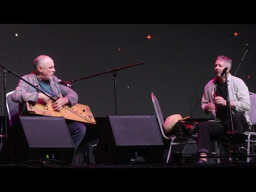
[[54, 154], [56, 160], [71, 163], [74, 154], [68, 127], [63, 117], [19, 116], [9, 130], [0, 152], [0, 164], [40, 160]]

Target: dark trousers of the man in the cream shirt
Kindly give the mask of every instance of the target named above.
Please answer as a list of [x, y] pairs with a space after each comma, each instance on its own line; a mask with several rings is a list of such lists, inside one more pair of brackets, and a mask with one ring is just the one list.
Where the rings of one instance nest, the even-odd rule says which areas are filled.
[[[234, 131], [242, 133], [248, 131], [248, 123], [246, 117], [243, 114], [232, 115]], [[232, 131], [230, 120], [230, 131]], [[209, 154], [210, 150], [210, 138], [218, 138], [225, 135], [228, 131], [227, 121], [213, 122], [205, 121], [198, 125], [198, 153]]]

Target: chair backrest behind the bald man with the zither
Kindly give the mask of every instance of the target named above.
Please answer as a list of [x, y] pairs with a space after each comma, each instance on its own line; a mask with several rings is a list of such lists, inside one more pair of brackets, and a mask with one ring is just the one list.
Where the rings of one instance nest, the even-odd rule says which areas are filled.
[[12, 92], [6, 94], [6, 108], [9, 116], [10, 127], [19, 116], [19, 104], [12, 100]]

